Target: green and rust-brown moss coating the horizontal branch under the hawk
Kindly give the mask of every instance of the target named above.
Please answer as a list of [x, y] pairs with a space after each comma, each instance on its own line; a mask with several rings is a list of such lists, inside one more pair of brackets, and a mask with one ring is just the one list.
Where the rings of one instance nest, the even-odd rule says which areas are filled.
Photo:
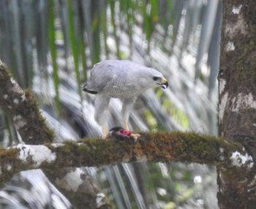
[[133, 161], [183, 161], [187, 163], [227, 166], [235, 151], [244, 153], [237, 142], [192, 132], [159, 132], [141, 134], [137, 142], [132, 139], [85, 139], [83, 145], [66, 142], [53, 149], [58, 158], [56, 167], [101, 166]]

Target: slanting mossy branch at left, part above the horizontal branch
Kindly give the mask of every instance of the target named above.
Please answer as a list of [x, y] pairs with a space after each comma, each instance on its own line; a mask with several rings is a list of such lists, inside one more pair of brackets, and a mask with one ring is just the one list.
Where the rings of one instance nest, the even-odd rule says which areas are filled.
[[53, 142], [53, 132], [39, 113], [34, 95], [30, 91], [23, 91], [1, 62], [0, 108], [11, 118], [26, 144]]

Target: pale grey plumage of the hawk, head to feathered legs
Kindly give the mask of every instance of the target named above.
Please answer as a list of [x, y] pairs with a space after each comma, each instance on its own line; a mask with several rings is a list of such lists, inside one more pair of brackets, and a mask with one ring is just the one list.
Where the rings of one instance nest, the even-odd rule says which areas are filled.
[[83, 91], [97, 94], [94, 118], [103, 126], [106, 122], [105, 110], [111, 97], [124, 100], [121, 115], [124, 121], [128, 121], [137, 96], [157, 86], [167, 88], [168, 83], [156, 69], [128, 60], [107, 60], [94, 65]]

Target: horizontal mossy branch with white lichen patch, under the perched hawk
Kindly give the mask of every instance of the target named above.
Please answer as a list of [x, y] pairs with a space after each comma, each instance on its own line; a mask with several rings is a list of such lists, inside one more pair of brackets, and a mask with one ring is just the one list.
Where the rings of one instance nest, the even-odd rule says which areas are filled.
[[251, 163], [250, 158], [241, 161], [246, 153], [237, 142], [192, 132], [144, 133], [137, 142], [130, 138], [110, 138], [86, 139], [80, 143], [20, 144], [1, 150], [0, 156], [1, 180], [6, 180], [20, 170], [97, 167], [119, 162], [181, 161], [225, 168]]

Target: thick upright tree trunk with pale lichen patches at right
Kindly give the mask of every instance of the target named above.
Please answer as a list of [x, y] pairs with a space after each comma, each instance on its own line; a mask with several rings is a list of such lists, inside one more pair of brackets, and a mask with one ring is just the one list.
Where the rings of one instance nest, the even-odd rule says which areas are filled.
[[[219, 69], [219, 135], [256, 160], [256, 1], [224, 0]], [[237, 153], [234, 153], [236, 155]], [[244, 159], [241, 158], [241, 161]], [[256, 208], [256, 170], [218, 168], [219, 208]]]

